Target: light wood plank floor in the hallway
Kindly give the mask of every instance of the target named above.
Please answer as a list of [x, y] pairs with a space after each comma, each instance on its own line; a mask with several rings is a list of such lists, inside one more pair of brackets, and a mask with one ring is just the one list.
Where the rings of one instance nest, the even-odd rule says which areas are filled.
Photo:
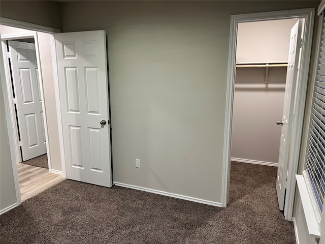
[[48, 169], [28, 164], [18, 164], [17, 170], [22, 202], [64, 180], [62, 175], [53, 174]]

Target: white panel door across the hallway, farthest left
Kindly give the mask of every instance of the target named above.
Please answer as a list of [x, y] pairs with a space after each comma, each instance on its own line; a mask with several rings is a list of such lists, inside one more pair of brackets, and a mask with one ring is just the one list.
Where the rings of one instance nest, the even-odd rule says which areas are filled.
[[46, 154], [44, 116], [34, 43], [8, 41], [23, 161]]

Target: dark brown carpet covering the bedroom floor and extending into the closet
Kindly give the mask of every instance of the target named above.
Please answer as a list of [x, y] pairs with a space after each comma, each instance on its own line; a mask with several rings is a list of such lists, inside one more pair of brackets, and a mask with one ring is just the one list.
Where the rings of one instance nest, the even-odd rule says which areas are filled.
[[63, 180], [0, 217], [1, 243], [295, 243], [276, 168], [232, 163], [227, 208]]

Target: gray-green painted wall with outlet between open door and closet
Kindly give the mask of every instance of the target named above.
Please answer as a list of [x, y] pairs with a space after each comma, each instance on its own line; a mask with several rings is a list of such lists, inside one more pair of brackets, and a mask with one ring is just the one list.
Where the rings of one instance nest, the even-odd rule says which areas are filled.
[[230, 16], [318, 2], [93, 3], [62, 28], [108, 34], [114, 181], [220, 202]]

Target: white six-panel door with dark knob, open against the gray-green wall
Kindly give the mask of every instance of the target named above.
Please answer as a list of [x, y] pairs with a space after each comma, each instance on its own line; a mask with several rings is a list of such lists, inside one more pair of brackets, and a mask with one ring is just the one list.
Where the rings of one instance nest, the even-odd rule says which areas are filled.
[[59, 33], [55, 46], [67, 178], [111, 187], [105, 35]]

